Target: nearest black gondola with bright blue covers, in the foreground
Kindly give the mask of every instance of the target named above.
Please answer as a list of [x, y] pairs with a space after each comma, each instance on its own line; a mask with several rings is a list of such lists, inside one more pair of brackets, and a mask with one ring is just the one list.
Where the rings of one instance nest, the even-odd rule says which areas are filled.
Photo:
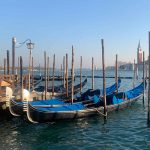
[[[143, 95], [144, 83], [132, 90], [111, 94], [106, 97], [107, 112], [119, 110], [130, 106]], [[88, 103], [62, 104], [59, 106], [34, 102], [27, 103], [27, 117], [31, 122], [51, 122], [64, 119], [75, 119], [97, 115], [104, 111], [103, 100], [94, 96]]]

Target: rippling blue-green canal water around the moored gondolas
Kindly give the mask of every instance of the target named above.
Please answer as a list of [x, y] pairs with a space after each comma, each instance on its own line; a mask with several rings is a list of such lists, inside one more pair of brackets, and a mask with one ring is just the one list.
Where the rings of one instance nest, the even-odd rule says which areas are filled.
[[[76, 74], [78, 72], [76, 71]], [[91, 75], [85, 70], [83, 75]], [[95, 75], [102, 75], [95, 71]], [[114, 76], [107, 71], [106, 76]], [[119, 76], [133, 76], [131, 71], [119, 71]], [[138, 85], [142, 79], [139, 72]], [[79, 79], [76, 79], [76, 83]], [[106, 85], [115, 79], [106, 79]], [[102, 88], [102, 79], [95, 79], [95, 88]], [[133, 87], [132, 79], [122, 79], [120, 91]], [[83, 90], [91, 88], [91, 78]], [[1, 150], [149, 150], [150, 128], [147, 127], [147, 91], [145, 104], [142, 98], [124, 110], [108, 114], [104, 124], [102, 116], [82, 118], [71, 121], [59, 121], [43, 124], [31, 124], [24, 118], [5, 118], [0, 122]]]

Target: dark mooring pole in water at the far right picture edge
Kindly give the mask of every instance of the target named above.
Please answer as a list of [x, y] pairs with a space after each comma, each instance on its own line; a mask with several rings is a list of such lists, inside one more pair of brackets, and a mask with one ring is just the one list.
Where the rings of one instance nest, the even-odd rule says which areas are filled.
[[148, 69], [149, 69], [149, 75], [148, 75], [148, 114], [147, 114], [147, 124], [150, 126], [150, 32], [149, 32], [149, 59], [148, 59]]

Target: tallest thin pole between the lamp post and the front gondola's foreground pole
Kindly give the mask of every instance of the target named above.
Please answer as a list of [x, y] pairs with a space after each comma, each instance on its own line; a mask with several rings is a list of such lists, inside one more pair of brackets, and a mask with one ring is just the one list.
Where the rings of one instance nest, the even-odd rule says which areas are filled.
[[71, 103], [73, 104], [74, 98], [74, 49], [72, 46], [72, 87], [71, 87]]

